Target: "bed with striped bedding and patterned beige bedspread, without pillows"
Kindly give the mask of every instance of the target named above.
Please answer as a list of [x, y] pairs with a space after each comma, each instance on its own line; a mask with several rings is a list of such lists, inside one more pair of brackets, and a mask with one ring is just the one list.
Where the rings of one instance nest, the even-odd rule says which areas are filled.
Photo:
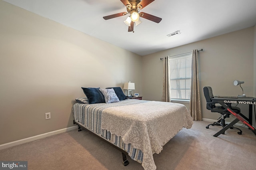
[[159, 154], [175, 134], [193, 124], [184, 105], [160, 101], [79, 102], [72, 111], [78, 128], [86, 128], [120, 148], [124, 151], [123, 159], [127, 153], [145, 170], [156, 170], [153, 154]]

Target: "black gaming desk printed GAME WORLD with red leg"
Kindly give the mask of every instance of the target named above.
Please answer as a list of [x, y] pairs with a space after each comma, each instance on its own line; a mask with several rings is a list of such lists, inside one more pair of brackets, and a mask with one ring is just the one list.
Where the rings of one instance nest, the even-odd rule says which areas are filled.
[[[232, 127], [234, 124], [238, 123], [241, 121], [244, 123], [246, 126], [248, 126], [254, 134], [256, 134], [256, 129], [252, 126], [252, 106], [256, 105], [256, 98], [254, 97], [238, 97], [238, 98], [229, 98], [229, 97], [219, 97], [219, 96], [214, 96], [212, 98], [212, 102], [214, 103], [220, 103], [225, 109], [228, 109], [228, 111], [236, 117], [234, 121], [232, 121], [230, 124], [227, 126], [223, 127], [219, 132], [214, 134], [213, 136], [217, 137], [223, 132], [225, 132], [228, 128]], [[244, 116], [242, 113], [235, 113], [230, 107], [228, 107], [228, 104], [244, 104], [244, 105], [249, 105], [249, 117], [247, 118]]]

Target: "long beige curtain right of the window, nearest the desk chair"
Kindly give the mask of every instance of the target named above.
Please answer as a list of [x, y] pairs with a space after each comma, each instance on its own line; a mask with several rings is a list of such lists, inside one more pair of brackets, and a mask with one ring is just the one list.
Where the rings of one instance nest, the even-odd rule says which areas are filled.
[[192, 51], [192, 70], [191, 70], [191, 86], [190, 86], [190, 114], [194, 121], [202, 121], [202, 109], [199, 88], [198, 75], [198, 51]]

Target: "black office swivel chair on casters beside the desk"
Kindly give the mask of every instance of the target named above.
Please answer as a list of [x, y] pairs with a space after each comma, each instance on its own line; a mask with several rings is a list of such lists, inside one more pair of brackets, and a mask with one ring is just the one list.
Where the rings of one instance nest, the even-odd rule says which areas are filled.
[[[219, 120], [217, 122], [211, 123], [209, 125], [206, 126], [206, 128], [209, 128], [209, 126], [222, 126], [225, 127], [227, 124], [225, 124], [225, 118], [229, 117], [229, 115], [231, 114], [227, 109], [225, 109], [222, 106], [216, 106], [214, 102], [212, 102], [212, 98], [214, 98], [214, 95], [212, 94], [212, 87], [206, 86], [204, 87], [204, 97], [206, 99], [206, 109], [210, 110], [211, 112], [217, 112], [221, 114], [221, 119], [219, 118]], [[240, 113], [240, 108], [239, 107], [232, 107], [231, 103], [228, 103], [228, 107], [230, 107], [230, 109], [232, 109], [234, 112], [236, 112], [237, 114]], [[239, 132], [237, 132], [238, 134], [242, 134], [242, 130], [240, 130], [237, 127], [230, 127], [231, 129], [237, 129], [239, 130]], [[224, 134], [225, 132], [223, 132], [222, 134]]]

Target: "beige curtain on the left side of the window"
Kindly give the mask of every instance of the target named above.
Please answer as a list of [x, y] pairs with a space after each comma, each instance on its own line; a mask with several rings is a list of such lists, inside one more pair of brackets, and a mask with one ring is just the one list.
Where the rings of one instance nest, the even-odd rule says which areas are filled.
[[164, 77], [163, 77], [163, 94], [162, 101], [171, 102], [171, 88], [170, 88], [170, 71], [169, 71], [169, 56], [164, 58]]

